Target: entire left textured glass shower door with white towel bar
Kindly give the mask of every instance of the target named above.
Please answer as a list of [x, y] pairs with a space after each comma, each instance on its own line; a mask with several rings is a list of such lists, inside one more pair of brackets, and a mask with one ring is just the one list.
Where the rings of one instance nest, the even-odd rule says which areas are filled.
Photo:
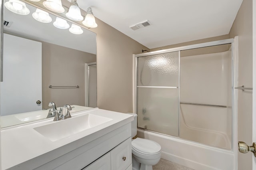
[[138, 57], [138, 127], [179, 135], [179, 51]]

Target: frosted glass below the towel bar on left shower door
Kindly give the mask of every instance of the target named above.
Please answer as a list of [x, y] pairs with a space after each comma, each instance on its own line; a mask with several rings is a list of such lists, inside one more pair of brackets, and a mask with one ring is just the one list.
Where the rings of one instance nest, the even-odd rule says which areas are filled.
[[138, 87], [138, 127], [178, 136], [179, 90]]

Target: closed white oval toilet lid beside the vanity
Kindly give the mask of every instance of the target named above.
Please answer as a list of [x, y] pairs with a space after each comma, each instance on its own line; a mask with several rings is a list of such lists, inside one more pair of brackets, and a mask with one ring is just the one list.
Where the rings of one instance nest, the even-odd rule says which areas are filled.
[[132, 148], [143, 154], [157, 154], [161, 150], [160, 144], [143, 138], [132, 140]]

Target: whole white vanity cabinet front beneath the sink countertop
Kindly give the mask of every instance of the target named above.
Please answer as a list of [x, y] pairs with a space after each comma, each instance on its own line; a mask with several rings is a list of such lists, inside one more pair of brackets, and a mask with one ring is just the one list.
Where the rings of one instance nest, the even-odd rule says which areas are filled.
[[[87, 170], [86, 168], [88, 170], [100, 168], [108, 170], [109, 164], [111, 170], [126, 170], [132, 164], [131, 144], [131, 123], [128, 123], [36, 168], [36, 170]], [[108, 154], [110, 154], [110, 160]], [[125, 158], [123, 159], [123, 157]]]

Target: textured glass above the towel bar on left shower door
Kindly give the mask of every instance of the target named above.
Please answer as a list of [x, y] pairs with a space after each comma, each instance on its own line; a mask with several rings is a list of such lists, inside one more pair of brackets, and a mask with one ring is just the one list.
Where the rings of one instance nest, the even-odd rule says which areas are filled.
[[138, 58], [138, 86], [179, 85], [179, 52]]

